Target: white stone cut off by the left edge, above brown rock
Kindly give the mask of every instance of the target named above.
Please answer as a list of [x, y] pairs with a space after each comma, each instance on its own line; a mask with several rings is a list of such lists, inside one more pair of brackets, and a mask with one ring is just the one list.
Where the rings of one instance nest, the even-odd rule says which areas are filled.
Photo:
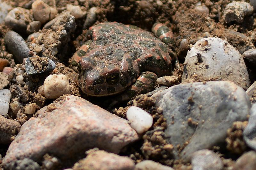
[[11, 99], [11, 92], [10, 90], [4, 89], [0, 90], [0, 114], [6, 115], [9, 110], [10, 105], [10, 99]]

